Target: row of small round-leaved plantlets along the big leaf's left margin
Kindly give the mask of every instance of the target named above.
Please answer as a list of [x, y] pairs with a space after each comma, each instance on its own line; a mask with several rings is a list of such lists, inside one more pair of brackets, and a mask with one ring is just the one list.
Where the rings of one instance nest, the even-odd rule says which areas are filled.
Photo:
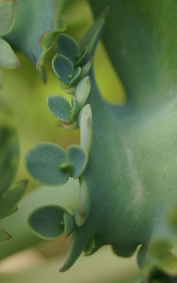
[[[62, 88], [66, 89], [66, 92], [70, 89], [69, 92], [73, 93], [73, 96], [71, 97], [71, 106], [61, 95], [48, 96], [47, 105], [49, 111], [63, 121], [64, 127], [80, 128], [80, 146], [69, 146], [67, 154], [65, 154], [59, 145], [40, 143], [32, 147], [26, 154], [25, 165], [36, 180], [46, 184], [63, 184], [67, 182], [70, 175], [73, 178], [79, 178], [80, 197], [78, 209], [73, 211], [73, 215], [67, 214], [65, 209], [58, 206], [41, 207], [30, 214], [28, 224], [43, 239], [55, 239], [64, 229], [66, 236], [69, 235], [74, 231], [75, 224], [77, 226], [83, 225], [90, 211], [89, 191], [82, 175], [88, 162], [92, 143], [92, 111], [89, 104], [85, 105], [91, 90], [91, 79], [85, 75], [91, 69], [96, 43], [104, 23], [104, 17], [101, 16], [94, 25], [93, 32], [89, 34], [90, 41], [87, 40], [88, 46], [83, 47], [83, 54], [79, 51], [79, 45], [70, 36], [62, 33], [57, 37], [59, 50], [63, 54], [54, 56], [52, 67], [62, 82]], [[68, 45], [68, 41], [70, 45]], [[79, 60], [79, 53], [82, 60]], [[86, 55], [87, 57], [91, 56], [91, 60], [82, 65], [81, 62], [86, 58]], [[80, 66], [77, 66], [74, 71], [75, 64], [73, 65], [73, 63], [76, 60], [80, 62]], [[53, 217], [54, 215], [55, 217]], [[74, 222], [75, 224], [73, 224]]]

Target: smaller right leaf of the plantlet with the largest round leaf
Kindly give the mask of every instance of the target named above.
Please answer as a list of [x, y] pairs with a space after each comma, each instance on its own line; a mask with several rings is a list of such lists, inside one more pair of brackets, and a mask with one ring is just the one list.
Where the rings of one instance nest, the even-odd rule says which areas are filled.
[[80, 146], [71, 145], [67, 148], [67, 160], [72, 165], [71, 175], [75, 179], [85, 170], [88, 154]]

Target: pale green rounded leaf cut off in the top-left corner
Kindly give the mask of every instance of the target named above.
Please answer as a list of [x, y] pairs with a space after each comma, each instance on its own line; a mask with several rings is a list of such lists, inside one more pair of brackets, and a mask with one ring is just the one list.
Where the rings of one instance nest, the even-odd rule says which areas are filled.
[[16, 6], [16, 0], [0, 1], [0, 36], [9, 33], [13, 28], [16, 16]]

